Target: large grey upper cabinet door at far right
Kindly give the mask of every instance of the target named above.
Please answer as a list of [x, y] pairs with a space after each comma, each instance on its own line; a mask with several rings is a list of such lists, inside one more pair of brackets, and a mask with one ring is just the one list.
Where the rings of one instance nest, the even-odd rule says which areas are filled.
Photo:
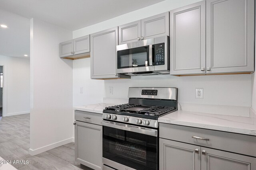
[[254, 71], [254, 0], [206, 0], [206, 67]]

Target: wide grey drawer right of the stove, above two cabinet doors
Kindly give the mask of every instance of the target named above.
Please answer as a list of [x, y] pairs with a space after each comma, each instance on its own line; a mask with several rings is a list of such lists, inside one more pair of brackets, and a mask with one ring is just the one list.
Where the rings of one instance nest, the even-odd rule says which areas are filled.
[[[256, 156], [255, 136], [166, 123], [160, 123], [159, 131], [160, 138], [190, 143], [203, 147], [226, 150], [229, 152], [235, 152], [249, 156]], [[209, 140], [196, 139], [192, 138], [192, 136], [202, 137]]]

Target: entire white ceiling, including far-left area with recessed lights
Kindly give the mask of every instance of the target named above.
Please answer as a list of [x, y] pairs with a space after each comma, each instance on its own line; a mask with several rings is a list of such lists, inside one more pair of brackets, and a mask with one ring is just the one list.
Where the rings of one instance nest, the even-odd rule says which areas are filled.
[[0, 55], [30, 53], [30, 19], [74, 31], [164, 0], [0, 0]]

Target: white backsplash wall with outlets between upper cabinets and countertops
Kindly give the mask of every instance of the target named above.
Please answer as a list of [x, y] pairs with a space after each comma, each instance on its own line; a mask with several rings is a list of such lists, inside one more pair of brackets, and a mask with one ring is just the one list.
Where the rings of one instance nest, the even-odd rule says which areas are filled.
[[[177, 87], [178, 102], [227, 106], [251, 106], [251, 74], [217, 76], [134, 76], [131, 79], [91, 80], [90, 58], [73, 62], [73, 103], [102, 102], [103, 97], [127, 98], [129, 87]], [[83, 93], [80, 93], [83, 87]], [[108, 88], [113, 87], [113, 94]], [[204, 99], [195, 98], [195, 88], [204, 88]]]

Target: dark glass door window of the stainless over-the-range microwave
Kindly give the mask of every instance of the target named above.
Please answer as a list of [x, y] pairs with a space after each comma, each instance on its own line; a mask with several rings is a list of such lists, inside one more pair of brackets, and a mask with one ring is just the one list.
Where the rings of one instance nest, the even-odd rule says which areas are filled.
[[148, 66], [149, 46], [117, 51], [117, 68]]

